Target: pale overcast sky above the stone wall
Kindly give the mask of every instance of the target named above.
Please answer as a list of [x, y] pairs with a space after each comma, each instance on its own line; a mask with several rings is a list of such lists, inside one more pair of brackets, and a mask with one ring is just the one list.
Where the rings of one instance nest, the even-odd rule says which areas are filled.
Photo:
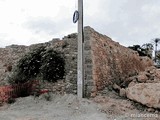
[[[78, 0], [0, 0], [0, 47], [77, 32]], [[84, 0], [84, 26], [129, 46], [160, 38], [160, 0]]]

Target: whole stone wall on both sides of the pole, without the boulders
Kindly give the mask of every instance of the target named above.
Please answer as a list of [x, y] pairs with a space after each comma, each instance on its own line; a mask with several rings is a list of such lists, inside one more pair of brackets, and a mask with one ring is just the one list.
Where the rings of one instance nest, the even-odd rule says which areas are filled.
[[[16, 61], [34, 47], [45, 45], [63, 53], [65, 59], [65, 83], [67, 93], [77, 93], [77, 34], [65, 36], [62, 40], [35, 44], [31, 46], [12, 45], [0, 48], [0, 80], [7, 76], [6, 67], [14, 66]], [[120, 84], [129, 76], [143, 71], [152, 61], [139, 57], [111, 38], [101, 35], [90, 27], [84, 28], [84, 88], [85, 96], [95, 96], [97, 91], [113, 83]]]

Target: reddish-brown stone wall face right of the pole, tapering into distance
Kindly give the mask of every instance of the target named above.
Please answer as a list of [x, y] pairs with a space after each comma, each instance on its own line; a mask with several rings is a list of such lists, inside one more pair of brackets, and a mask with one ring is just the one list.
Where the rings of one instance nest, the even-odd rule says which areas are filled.
[[111, 38], [99, 34], [90, 27], [85, 28], [86, 91], [91, 96], [114, 83], [120, 84], [146, 67], [153, 65], [152, 60], [140, 57]]

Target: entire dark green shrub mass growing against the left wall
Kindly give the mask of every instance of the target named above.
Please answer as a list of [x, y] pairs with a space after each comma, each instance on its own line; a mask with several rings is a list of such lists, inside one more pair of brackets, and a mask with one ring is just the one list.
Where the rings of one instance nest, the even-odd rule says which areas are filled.
[[55, 82], [64, 76], [64, 63], [60, 53], [44, 46], [37, 47], [17, 62], [9, 82], [25, 83], [37, 77]]

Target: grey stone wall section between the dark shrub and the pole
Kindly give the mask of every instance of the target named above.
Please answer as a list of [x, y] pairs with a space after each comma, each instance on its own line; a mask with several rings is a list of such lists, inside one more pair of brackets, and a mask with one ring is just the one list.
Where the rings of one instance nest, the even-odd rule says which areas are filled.
[[[55, 40], [53, 40], [55, 41]], [[63, 53], [65, 59], [66, 92], [77, 93], [77, 34], [65, 36], [57, 42], [50, 42], [51, 47]]]

